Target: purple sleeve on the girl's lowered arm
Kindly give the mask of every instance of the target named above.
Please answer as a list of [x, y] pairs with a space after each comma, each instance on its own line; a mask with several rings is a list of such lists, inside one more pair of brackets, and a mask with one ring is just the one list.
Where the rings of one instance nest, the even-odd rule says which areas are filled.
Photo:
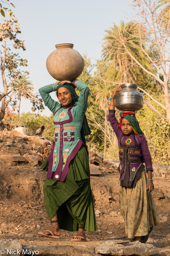
[[142, 154], [143, 158], [145, 160], [145, 166], [146, 166], [146, 171], [153, 171], [152, 168], [152, 160], [151, 160], [151, 155], [147, 146], [147, 140], [145, 138], [145, 135], [139, 135], [140, 136], [140, 143], [141, 143], [141, 149], [142, 149]]

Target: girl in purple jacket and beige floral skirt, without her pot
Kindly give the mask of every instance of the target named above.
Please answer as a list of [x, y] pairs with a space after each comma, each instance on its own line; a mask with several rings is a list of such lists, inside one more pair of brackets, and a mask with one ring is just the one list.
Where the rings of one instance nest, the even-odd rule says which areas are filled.
[[[160, 226], [158, 211], [150, 193], [154, 189], [152, 161], [135, 113], [121, 113], [119, 123], [115, 117], [114, 99], [121, 90], [120, 86], [112, 93], [108, 116], [118, 138], [120, 209], [128, 238], [134, 237], [133, 241], [146, 243], [153, 227]], [[142, 164], [144, 162], [146, 170]]]

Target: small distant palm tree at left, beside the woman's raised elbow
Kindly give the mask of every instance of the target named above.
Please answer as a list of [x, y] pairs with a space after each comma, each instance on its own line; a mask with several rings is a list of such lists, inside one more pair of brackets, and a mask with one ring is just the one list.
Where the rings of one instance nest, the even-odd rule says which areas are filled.
[[30, 80], [28, 80], [30, 77], [27, 77], [27, 74], [25, 75], [19, 75], [18, 78], [13, 82], [12, 88], [17, 93], [17, 97], [19, 99], [19, 108], [18, 108], [18, 118], [17, 123], [19, 122], [20, 117], [20, 104], [21, 104], [21, 96], [24, 98], [27, 98], [28, 93], [33, 91], [33, 85]]

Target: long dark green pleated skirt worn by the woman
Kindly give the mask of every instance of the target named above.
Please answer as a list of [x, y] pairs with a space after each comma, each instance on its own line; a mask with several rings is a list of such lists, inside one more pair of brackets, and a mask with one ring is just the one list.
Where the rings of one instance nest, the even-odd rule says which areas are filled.
[[43, 191], [49, 219], [51, 221], [57, 211], [60, 229], [77, 231], [79, 224], [86, 231], [97, 230], [85, 147], [81, 147], [71, 160], [65, 180], [46, 178]]

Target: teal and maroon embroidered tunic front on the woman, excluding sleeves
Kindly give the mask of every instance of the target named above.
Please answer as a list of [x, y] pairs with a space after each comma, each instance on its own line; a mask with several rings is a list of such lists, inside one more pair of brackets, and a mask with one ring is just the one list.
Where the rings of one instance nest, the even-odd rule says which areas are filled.
[[75, 106], [62, 106], [54, 113], [55, 133], [52, 152], [48, 157], [48, 179], [64, 181], [70, 161], [83, 144], [80, 131], [84, 116], [78, 115]]

